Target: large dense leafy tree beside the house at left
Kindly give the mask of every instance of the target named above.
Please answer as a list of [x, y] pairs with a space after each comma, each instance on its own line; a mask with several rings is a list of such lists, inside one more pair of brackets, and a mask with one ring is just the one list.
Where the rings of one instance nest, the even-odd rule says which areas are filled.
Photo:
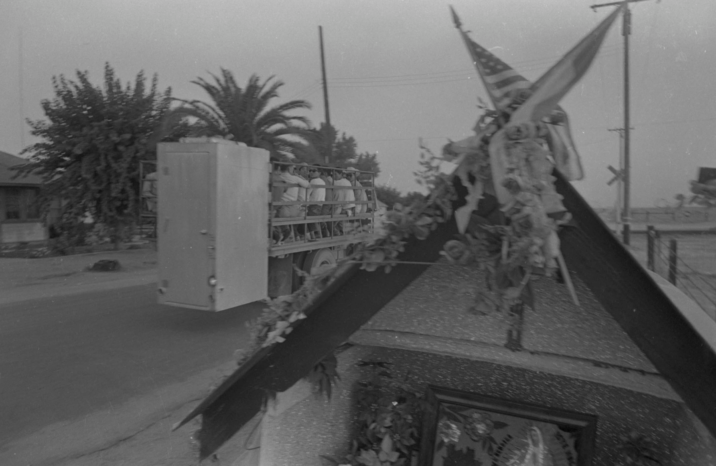
[[28, 120], [41, 142], [22, 151], [32, 155], [16, 176], [39, 175], [43, 205], [63, 200], [62, 217], [71, 225], [92, 215], [118, 246], [135, 221], [139, 160], [155, 157], [150, 142], [169, 110], [171, 90], [159, 91], [156, 74], [147, 88], [144, 72], [122, 87], [109, 63], [102, 87], [79, 70], [76, 81], [61, 74], [52, 84], [54, 99], [42, 101], [47, 120]]

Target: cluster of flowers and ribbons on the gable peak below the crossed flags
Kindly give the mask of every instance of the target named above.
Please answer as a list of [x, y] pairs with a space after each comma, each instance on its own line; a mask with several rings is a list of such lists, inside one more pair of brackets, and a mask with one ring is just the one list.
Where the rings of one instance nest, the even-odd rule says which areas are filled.
[[[574, 288], [560, 253], [557, 230], [571, 215], [561, 204], [551, 175], [554, 164], [544, 137], [544, 123], [506, 125], [486, 111], [475, 126], [475, 137], [451, 142], [448, 157], [462, 157], [456, 176], [468, 190], [464, 232], [445, 244], [450, 263], [477, 263], [485, 281], [475, 290], [475, 314], [495, 310], [511, 313], [514, 306], [534, 307], [531, 281], [561, 269], [574, 301]], [[498, 218], [476, 215], [486, 192], [500, 200]], [[460, 210], [460, 209], [458, 209]]]

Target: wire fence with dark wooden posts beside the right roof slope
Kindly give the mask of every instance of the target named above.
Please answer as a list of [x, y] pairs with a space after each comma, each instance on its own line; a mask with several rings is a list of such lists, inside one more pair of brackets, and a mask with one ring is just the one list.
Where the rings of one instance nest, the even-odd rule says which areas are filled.
[[665, 241], [661, 232], [647, 232], [647, 268], [667, 278], [716, 320], [716, 275], [699, 271], [679, 255], [674, 238]]

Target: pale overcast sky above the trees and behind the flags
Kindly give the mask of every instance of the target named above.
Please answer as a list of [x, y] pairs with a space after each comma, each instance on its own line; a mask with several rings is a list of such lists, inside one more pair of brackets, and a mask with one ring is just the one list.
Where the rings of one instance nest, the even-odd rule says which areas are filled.
[[[452, 1], [475, 42], [531, 80], [609, 14], [593, 3]], [[631, 9], [632, 205], [650, 207], [687, 193], [699, 166], [716, 166], [716, 1]], [[240, 83], [276, 75], [281, 100], [309, 100], [318, 126], [319, 25], [332, 123], [378, 153], [378, 183], [417, 189], [418, 138], [439, 152], [472, 134], [478, 97], [488, 102], [443, 1], [2, 0], [0, 10], [0, 150], [14, 154], [33, 142], [22, 121], [43, 117], [52, 76], [86, 69], [100, 84], [105, 62], [123, 81], [158, 73], [185, 99], [205, 99], [190, 80], [219, 67]], [[606, 167], [619, 163], [619, 140], [607, 129], [623, 125], [622, 69], [620, 18], [561, 102], [586, 170], [574, 185], [595, 207], [614, 203]]]

